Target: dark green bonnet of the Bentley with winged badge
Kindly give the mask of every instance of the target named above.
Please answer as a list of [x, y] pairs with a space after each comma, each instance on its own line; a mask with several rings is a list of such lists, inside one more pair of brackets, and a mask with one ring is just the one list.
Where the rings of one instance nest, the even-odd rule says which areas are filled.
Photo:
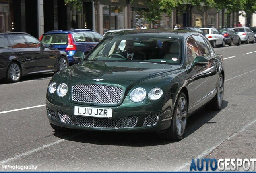
[[149, 62], [85, 61], [74, 66], [70, 84], [110, 84], [128, 87], [163, 73], [172, 72], [179, 65]]

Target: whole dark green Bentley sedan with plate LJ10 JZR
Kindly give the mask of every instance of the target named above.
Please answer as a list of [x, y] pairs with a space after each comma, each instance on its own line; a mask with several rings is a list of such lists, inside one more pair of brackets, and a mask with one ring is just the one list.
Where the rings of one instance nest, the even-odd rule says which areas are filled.
[[178, 141], [190, 115], [223, 103], [223, 57], [198, 32], [120, 31], [74, 58], [82, 61], [54, 74], [47, 89], [56, 131], [158, 132]]

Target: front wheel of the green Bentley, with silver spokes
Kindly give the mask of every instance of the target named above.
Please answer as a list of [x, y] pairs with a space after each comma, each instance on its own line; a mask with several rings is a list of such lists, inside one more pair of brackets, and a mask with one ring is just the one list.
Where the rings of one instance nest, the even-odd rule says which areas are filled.
[[160, 133], [161, 139], [180, 141], [186, 130], [187, 125], [187, 114], [188, 114], [188, 102], [186, 95], [180, 93], [175, 109], [173, 110], [173, 116], [171, 121], [171, 126], [164, 132]]

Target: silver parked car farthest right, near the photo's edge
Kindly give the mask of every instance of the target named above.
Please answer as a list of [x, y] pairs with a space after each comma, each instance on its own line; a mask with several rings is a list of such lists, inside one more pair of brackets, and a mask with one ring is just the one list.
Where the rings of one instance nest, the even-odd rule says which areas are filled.
[[233, 30], [239, 35], [241, 42], [245, 42], [245, 44], [249, 44], [250, 42], [255, 43], [255, 35], [250, 28], [235, 27]]

